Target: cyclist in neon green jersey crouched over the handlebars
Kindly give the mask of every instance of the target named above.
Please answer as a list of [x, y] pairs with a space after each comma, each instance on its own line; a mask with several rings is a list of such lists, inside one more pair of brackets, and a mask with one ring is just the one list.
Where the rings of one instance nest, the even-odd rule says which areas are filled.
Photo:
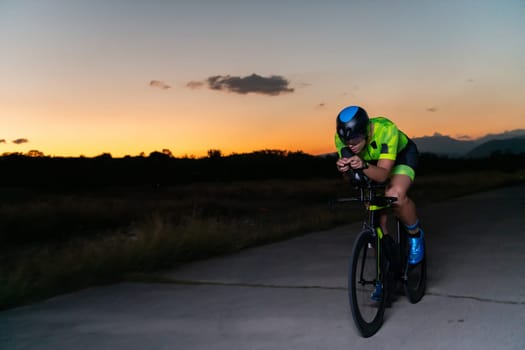
[[[408, 261], [418, 264], [424, 255], [424, 233], [419, 226], [416, 206], [407, 196], [419, 157], [416, 144], [392, 121], [385, 117], [369, 118], [359, 106], [341, 110], [336, 130], [335, 145], [340, 157], [336, 164], [340, 172], [345, 173], [349, 168], [362, 169], [368, 178], [377, 182], [390, 178], [386, 195], [397, 197], [394, 214], [409, 233]], [[385, 223], [386, 216], [382, 220]], [[374, 294], [377, 296], [380, 292]]]

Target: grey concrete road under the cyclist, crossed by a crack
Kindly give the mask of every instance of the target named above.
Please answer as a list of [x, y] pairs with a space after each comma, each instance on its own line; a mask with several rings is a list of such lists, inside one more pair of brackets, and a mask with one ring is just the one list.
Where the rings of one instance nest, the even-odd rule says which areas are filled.
[[0, 349], [525, 349], [525, 184], [420, 216], [428, 294], [372, 338], [347, 301], [353, 224], [1, 312]]

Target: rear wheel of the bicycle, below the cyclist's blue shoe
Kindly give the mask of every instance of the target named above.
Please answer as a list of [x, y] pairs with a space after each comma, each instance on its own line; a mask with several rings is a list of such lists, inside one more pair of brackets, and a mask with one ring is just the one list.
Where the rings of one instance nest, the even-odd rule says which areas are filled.
[[[404, 233], [407, 235], [407, 233]], [[423, 238], [423, 244], [425, 244]], [[404, 239], [405, 257], [408, 257], [408, 237]], [[425, 295], [426, 285], [427, 285], [427, 259], [426, 255], [423, 255], [423, 260], [416, 265], [410, 265], [407, 260], [405, 260], [405, 268], [403, 272], [403, 285], [405, 289], [405, 294], [408, 300], [412, 304], [418, 303], [423, 296]]]

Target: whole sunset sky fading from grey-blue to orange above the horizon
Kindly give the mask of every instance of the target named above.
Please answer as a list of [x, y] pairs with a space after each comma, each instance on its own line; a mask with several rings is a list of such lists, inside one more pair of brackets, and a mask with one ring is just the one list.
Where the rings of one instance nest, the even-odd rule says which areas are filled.
[[0, 154], [331, 152], [525, 128], [524, 0], [0, 0]]

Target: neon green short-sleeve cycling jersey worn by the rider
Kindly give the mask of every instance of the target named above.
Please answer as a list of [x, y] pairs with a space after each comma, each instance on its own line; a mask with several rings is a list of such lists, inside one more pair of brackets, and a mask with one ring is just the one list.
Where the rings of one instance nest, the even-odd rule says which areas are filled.
[[[408, 137], [385, 117], [370, 118], [370, 125], [373, 126], [373, 135], [359, 156], [366, 161], [396, 160], [397, 154], [407, 145]], [[341, 156], [341, 149], [346, 145], [337, 133], [335, 134], [335, 145]]]

